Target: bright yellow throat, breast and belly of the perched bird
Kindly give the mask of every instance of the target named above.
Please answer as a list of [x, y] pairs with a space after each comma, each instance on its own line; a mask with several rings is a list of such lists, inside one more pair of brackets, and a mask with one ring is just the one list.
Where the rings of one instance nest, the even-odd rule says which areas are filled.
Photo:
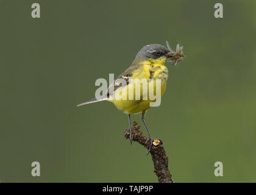
[[[114, 93], [114, 98], [109, 100], [119, 110], [123, 110], [127, 114], [148, 110], [151, 107], [150, 102], [155, 102], [151, 95], [153, 91], [155, 95], [158, 89], [160, 96], [163, 96], [166, 90], [168, 69], [164, 62], [151, 63], [147, 60], [141, 65], [141, 68], [132, 74], [131, 79], [133, 79], [133, 82], [129, 83], [126, 87], [118, 88]], [[161, 79], [161, 82], [157, 83], [156, 79]], [[151, 91], [151, 94], [149, 91]]]

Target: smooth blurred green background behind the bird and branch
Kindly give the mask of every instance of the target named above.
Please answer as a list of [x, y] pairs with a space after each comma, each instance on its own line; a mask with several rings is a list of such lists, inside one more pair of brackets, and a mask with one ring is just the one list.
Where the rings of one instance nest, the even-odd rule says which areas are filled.
[[[41, 18], [31, 5], [41, 5]], [[224, 18], [214, 5], [222, 2]], [[157, 182], [125, 140], [127, 116], [94, 98], [146, 44], [184, 46], [147, 115], [175, 182], [256, 182], [256, 1], [0, 1], [1, 182]], [[132, 121], [140, 121], [133, 115]], [[143, 127], [143, 133], [146, 130]], [[41, 176], [30, 174], [39, 161]], [[222, 161], [224, 177], [215, 177]]]

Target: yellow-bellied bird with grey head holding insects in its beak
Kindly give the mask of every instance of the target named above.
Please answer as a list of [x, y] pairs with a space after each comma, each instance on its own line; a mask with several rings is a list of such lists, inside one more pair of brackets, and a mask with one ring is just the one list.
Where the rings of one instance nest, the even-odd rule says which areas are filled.
[[[148, 132], [148, 138], [145, 145], [150, 141], [147, 154], [149, 154], [149, 151], [151, 150], [153, 138], [146, 125], [145, 117], [151, 104], [157, 101], [156, 99], [152, 100], [149, 97], [149, 91], [157, 93], [157, 87], [160, 87], [158, 93], [160, 94], [160, 97], [162, 97], [165, 93], [168, 80], [168, 68], [165, 66], [166, 61], [171, 62], [173, 65], [177, 65], [180, 60], [185, 58], [185, 55], [183, 54], [183, 46], [177, 44], [176, 51], [171, 49], [168, 41], [166, 41], [166, 46], [167, 48], [162, 44], [148, 44], [143, 46], [135, 56], [132, 65], [109, 85], [104, 96], [77, 105], [79, 107], [81, 105], [99, 101], [112, 102], [118, 110], [121, 110], [128, 115], [129, 128], [127, 130], [130, 131], [131, 144], [133, 142], [130, 115], [141, 113], [141, 120]], [[160, 83], [156, 82], [157, 79], [160, 79]], [[144, 82], [141, 82], [141, 80], [144, 80]], [[146, 83], [147, 86], [143, 85], [144, 83]], [[144, 90], [146, 88], [148, 90]], [[121, 94], [124, 94], [124, 96]], [[120, 95], [122, 98], [120, 98]]]

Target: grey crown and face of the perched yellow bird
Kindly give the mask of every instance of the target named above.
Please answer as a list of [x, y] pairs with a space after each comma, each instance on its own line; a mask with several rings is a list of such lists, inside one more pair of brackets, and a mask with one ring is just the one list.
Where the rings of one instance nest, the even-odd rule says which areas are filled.
[[165, 57], [168, 52], [170, 51], [161, 44], [148, 44], [138, 52], [135, 59], [158, 59]]

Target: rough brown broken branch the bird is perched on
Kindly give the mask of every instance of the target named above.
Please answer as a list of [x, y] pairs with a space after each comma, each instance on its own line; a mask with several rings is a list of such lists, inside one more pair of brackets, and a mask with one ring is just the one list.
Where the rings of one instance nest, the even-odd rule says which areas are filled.
[[[147, 138], [142, 135], [140, 127], [141, 126], [139, 126], [137, 122], [133, 122], [132, 140], [137, 141], [139, 144], [145, 146], [146, 148], [149, 148], [150, 140], [145, 143]], [[130, 130], [126, 131], [124, 137], [126, 137], [126, 139], [130, 139]], [[158, 182], [173, 183], [171, 179], [172, 176], [168, 170], [168, 157], [166, 156], [165, 149], [163, 148], [163, 142], [161, 140], [154, 140], [150, 154], [154, 163], [154, 172], [158, 177]]]

